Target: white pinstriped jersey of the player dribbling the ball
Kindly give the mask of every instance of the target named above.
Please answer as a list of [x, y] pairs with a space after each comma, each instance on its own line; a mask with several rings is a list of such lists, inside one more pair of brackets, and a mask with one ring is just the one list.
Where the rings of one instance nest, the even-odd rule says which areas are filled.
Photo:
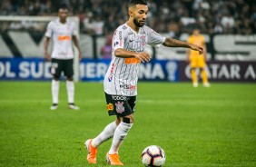
[[129, 25], [119, 26], [113, 34], [112, 61], [104, 77], [104, 92], [108, 94], [135, 96], [140, 61], [136, 58], [116, 57], [114, 51], [123, 48], [127, 51], [142, 53], [146, 44], [159, 47], [165, 37], [144, 25], [136, 33]]

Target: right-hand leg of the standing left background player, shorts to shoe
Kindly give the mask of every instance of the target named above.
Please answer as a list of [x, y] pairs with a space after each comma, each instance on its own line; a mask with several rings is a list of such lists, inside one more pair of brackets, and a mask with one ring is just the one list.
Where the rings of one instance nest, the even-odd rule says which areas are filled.
[[64, 60], [64, 64], [64, 75], [66, 76], [66, 92], [68, 97], [68, 106], [70, 109], [79, 110], [79, 107], [74, 104], [73, 59]]

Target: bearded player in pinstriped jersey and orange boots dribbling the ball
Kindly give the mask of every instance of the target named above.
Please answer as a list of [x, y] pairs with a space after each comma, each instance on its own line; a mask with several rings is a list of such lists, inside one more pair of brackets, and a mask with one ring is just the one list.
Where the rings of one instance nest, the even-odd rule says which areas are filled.
[[103, 82], [108, 114], [116, 115], [116, 119], [94, 139], [84, 142], [89, 163], [96, 163], [97, 148], [113, 137], [106, 161], [111, 165], [123, 165], [118, 150], [133, 127], [139, 65], [151, 59], [150, 54], [144, 52], [146, 44], [156, 47], [161, 44], [167, 47], [186, 47], [203, 53], [202, 47], [165, 38], [144, 25], [148, 14], [145, 0], [131, 0], [128, 9], [129, 20], [120, 25], [113, 34], [113, 58]]

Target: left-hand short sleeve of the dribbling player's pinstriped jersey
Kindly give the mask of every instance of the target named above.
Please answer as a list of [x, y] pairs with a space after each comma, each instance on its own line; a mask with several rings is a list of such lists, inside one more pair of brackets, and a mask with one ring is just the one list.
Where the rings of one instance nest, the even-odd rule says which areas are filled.
[[124, 47], [123, 33], [124, 32], [120, 29], [115, 30], [115, 32], [113, 33], [113, 42], [112, 42], [113, 51], [115, 51], [118, 48]]

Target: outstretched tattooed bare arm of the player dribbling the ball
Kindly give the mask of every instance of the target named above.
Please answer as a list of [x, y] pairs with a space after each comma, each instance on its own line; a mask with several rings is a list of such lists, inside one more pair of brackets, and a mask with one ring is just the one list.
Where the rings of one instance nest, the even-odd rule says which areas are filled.
[[195, 51], [199, 51], [199, 54], [204, 53], [203, 48], [198, 45], [189, 44], [173, 38], [166, 38], [162, 45], [167, 47], [186, 47], [186, 48], [191, 48], [192, 50], [195, 50]]

